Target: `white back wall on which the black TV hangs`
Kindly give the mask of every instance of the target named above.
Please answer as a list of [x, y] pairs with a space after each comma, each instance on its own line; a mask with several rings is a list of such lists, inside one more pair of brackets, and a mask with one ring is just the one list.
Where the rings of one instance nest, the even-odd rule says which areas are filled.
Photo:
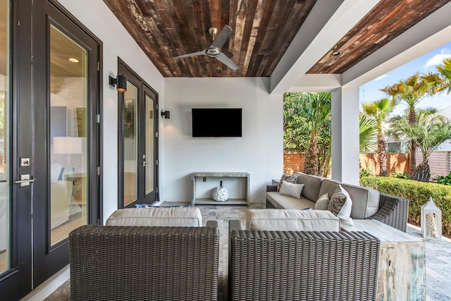
[[[283, 99], [262, 78], [166, 78], [163, 200], [190, 201], [192, 172], [250, 173], [251, 202], [283, 173]], [[242, 137], [193, 138], [192, 108], [242, 108]]]

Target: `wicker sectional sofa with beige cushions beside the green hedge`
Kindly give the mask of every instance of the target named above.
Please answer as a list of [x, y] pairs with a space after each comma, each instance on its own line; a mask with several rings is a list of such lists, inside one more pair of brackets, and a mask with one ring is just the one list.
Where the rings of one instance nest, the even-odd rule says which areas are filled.
[[331, 197], [338, 185], [342, 185], [352, 199], [352, 219], [376, 219], [406, 232], [408, 199], [305, 173], [296, 173], [296, 175], [297, 183], [304, 184], [301, 198], [280, 195], [277, 192], [277, 185], [268, 185], [266, 186], [266, 208], [305, 209], [310, 207], [315, 209], [316, 200], [321, 195], [328, 193], [328, 197]]

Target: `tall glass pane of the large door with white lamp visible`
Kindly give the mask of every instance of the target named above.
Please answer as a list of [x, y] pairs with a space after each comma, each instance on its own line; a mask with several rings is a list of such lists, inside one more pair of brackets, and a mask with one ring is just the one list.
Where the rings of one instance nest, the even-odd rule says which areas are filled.
[[87, 224], [87, 51], [50, 27], [51, 245]]

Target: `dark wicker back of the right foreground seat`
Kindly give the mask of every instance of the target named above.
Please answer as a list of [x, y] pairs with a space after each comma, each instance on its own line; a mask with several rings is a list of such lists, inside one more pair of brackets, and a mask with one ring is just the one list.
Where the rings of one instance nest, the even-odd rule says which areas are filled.
[[230, 300], [376, 300], [381, 241], [366, 232], [241, 230], [229, 221], [229, 238]]

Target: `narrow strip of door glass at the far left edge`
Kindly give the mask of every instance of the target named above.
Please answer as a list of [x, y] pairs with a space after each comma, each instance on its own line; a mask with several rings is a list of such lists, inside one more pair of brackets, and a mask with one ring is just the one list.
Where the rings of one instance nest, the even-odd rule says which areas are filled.
[[9, 1], [0, 1], [0, 274], [10, 269]]

